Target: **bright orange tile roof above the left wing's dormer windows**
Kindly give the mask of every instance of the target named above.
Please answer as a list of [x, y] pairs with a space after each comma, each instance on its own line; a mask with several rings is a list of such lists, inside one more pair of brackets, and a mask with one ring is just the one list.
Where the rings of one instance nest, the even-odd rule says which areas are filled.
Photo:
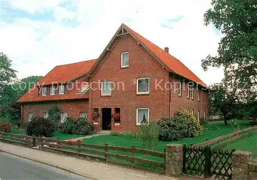
[[88, 71], [95, 64], [95, 62], [96, 59], [93, 59], [79, 63], [56, 66], [42, 79], [40, 79], [37, 86], [74, 81], [75, 79], [78, 79], [79, 77], [88, 73]]

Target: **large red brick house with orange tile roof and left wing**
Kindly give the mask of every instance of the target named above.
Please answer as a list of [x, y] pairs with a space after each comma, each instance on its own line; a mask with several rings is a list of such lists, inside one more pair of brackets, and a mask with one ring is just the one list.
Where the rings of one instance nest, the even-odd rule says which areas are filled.
[[[68, 88], [75, 82], [77, 87]], [[55, 95], [50, 95], [52, 86]], [[123, 132], [135, 131], [142, 121], [172, 116], [179, 108], [198, 119], [208, 116], [208, 86], [169, 48], [160, 49], [124, 24], [98, 59], [57, 66], [35, 87], [18, 101], [23, 121], [47, 115], [53, 106], [61, 111], [60, 122], [66, 116], [87, 116], [96, 130]], [[116, 114], [120, 121], [115, 123]]]

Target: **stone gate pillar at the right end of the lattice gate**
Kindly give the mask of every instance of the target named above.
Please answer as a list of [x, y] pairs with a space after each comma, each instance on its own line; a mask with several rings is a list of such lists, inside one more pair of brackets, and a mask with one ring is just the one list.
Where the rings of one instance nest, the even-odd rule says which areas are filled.
[[248, 180], [248, 163], [252, 161], [252, 153], [235, 151], [232, 153], [232, 179]]

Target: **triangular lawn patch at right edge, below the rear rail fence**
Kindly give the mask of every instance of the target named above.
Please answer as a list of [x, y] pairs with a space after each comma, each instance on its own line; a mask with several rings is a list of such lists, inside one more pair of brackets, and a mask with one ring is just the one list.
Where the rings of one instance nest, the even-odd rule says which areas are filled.
[[257, 134], [250, 134], [248, 136], [237, 139], [231, 143], [220, 146], [228, 150], [236, 149], [240, 151], [250, 151], [253, 157], [257, 157]]

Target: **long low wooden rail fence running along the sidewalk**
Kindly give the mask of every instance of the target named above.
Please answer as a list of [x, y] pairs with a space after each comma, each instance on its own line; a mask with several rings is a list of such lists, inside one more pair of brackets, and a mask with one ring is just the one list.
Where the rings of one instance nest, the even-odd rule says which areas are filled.
[[[40, 146], [40, 149], [46, 151], [54, 151], [59, 153], [68, 153], [72, 155], [82, 155], [87, 157], [94, 157], [96, 159], [103, 160], [105, 162], [112, 162], [118, 164], [124, 164], [133, 167], [145, 168], [144, 165], [151, 165], [154, 167], [161, 168], [158, 169], [160, 172], [165, 172], [165, 161], [166, 161], [166, 153], [158, 152], [146, 149], [138, 149], [132, 146], [128, 147], [118, 147], [118, 146], [109, 146], [105, 145], [95, 145], [95, 144], [85, 144], [85, 143], [77, 143], [77, 142], [67, 142], [60, 141], [58, 139], [51, 138], [42, 138], [35, 136], [27, 136], [27, 135], [19, 135], [19, 134], [11, 134], [0, 132], [0, 141], [9, 142], [9, 143], [19, 143], [26, 146]], [[110, 151], [122, 151], [122, 152], [130, 152], [130, 155], [123, 155], [119, 152], [113, 153]], [[152, 161], [150, 159], [136, 157], [135, 153], [146, 154], [151, 156], [156, 156], [162, 158], [162, 161]], [[95, 155], [96, 154], [96, 155]], [[122, 159], [123, 161], [119, 161], [117, 159]], [[125, 161], [124, 161], [125, 160]], [[148, 169], [148, 168], [146, 168]]]

